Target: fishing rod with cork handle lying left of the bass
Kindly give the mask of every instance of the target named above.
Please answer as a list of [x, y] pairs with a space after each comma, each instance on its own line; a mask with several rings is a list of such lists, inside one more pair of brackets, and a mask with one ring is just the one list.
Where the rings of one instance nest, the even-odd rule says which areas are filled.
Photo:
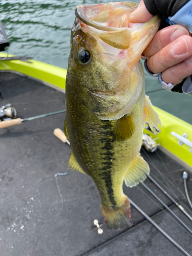
[[31, 121], [31, 120], [34, 120], [34, 119], [46, 117], [46, 116], [57, 115], [57, 114], [64, 113], [64, 112], [65, 112], [65, 110], [60, 110], [60, 111], [56, 111], [56, 112], [52, 112], [52, 113], [48, 113], [48, 114], [43, 114], [43, 115], [39, 115], [39, 116], [28, 117], [28, 118], [24, 118], [24, 119], [16, 118], [16, 119], [11, 119], [11, 120], [7, 120], [7, 121], [1, 121], [0, 122], [0, 129], [7, 128], [7, 127], [17, 125], [17, 124], [21, 124], [21, 123], [26, 122], [26, 121]]

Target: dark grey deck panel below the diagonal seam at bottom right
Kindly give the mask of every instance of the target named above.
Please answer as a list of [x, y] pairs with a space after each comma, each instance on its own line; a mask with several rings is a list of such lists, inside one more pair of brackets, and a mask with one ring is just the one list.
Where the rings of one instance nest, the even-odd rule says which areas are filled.
[[[176, 206], [171, 206], [170, 208], [182, 218]], [[177, 243], [183, 246], [188, 253], [192, 253], [192, 237], [180, 227], [178, 228], [178, 225], [167, 217], [165, 210], [158, 212], [152, 219], [172, 236]], [[170, 221], [171, 225], [167, 226], [168, 221]], [[192, 223], [187, 220], [185, 221], [188, 223], [189, 227], [192, 228]], [[103, 255], [183, 256], [184, 254], [175, 245], [171, 244], [151, 223], [145, 220], [130, 230], [120, 234], [117, 238], [104, 243], [83, 256]]]

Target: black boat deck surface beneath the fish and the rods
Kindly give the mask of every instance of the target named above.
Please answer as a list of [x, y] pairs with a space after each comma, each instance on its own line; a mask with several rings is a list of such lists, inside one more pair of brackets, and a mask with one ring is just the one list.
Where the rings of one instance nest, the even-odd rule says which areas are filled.
[[[18, 117], [65, 109], [65, 94], [23, 76], [0, 74], [0, 90], [4, 97], [0, 106], [14, 104]], [[70, 146], [53, 135], [54, 129], [62, 130], [64, 119], [65, 114], [59, 114], [0, 130], [0, 255], [184, 255], [134, 207], [133, 227], [106, 229], [94, 182], [87, 175], [67, 170]], [[160, 150], [141, 153], [150, 164], [151, 175], [189, 208], [184, 168]], [[55, 177], [66, 172], [66, 176]], [[150, 180], [145, 184], [192, 229], [192, 222]], [[188, 180], [190, 197], [191, 184]], [[190, 234], [142, 185], [124, 186], [124, 193], [192, 255]], [[102, 224], [103, 234], [97, 233], [94, 219]]]

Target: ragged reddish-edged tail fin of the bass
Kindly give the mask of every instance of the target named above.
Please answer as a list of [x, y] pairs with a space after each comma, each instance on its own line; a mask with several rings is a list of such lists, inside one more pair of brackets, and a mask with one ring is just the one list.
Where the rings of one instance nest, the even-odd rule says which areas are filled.
[[123, 227], [133, 225], [130, 201], [127, 197], [120, 207], [108, 207], [101, 204], [101, 210], [108, 229], [120, 230]]

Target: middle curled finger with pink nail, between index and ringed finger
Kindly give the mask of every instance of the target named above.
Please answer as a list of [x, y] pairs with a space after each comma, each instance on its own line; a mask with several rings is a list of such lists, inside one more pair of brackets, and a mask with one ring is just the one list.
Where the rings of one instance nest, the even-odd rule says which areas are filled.
[[192, 55], [192, 37], [184, 35], [171, 42], [147, 60], [147, 68], [156, 74], [176, 65]]

